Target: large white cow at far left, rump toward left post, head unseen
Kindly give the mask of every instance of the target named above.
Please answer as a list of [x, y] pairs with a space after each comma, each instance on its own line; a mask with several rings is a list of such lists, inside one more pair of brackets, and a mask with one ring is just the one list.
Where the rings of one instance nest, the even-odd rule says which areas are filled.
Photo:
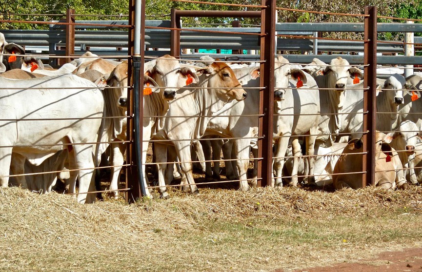
[[[78, 201], [93, 201], [93, 196], [85, 193], [93, 186], [92, 142], [98, 140], [101, 119], [85, 118], [103, 116], [104, 100], [98, 86], [74, 75], [28, 80], [0, 78], [0, 85], [4, 88], [0, 97], [0, 185], [7, 187], [9, 167], [14, 174], [24, 173], [25, 158], [40, 164], [56, 152], [67, 150], [72, 165], [80, 169], [79, 193], [82, 194], [78, 195]], [[16, 87], [21, 89], [13, 89]], [[66, 89], [51, 89], [60, 87]], [[48, 120], [58, 117], [77, 119]], [[19, 176], [17, 180], [27, 187], [24, 177]]]

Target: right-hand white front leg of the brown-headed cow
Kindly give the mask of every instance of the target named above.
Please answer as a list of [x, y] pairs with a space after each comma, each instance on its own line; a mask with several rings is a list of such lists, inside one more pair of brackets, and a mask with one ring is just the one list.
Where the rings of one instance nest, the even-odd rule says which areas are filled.
[[[180, 135], [181, 139], [187, 139], [189, 136]], [[195, 185], [195, 180], [192, 175], [192, 161], [190, 161], [190, 142], [188, 141], [174, 141], [176, 152], [181, 161], [181, 170], [186, 176], [189, 188], [192, 194], [198, 194], [198, 187]]]

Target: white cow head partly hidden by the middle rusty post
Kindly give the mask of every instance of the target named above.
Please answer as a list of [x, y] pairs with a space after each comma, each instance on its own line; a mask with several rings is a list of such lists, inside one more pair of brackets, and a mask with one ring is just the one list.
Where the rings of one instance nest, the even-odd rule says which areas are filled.
[[275, 59], [274, 64], [274, 99], [277, 101], [284, 100], [286, 88], [289, 87], [289, 80], [295, 81], [301, 80], [303, 84], [306, 84], [306, 76], [300, 69], [291, 69], [290, 62], [278, 56]]

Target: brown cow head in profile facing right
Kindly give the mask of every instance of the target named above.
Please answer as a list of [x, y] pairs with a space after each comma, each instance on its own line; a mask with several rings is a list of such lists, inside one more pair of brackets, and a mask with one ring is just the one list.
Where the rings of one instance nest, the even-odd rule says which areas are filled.
[[217, 97], [224, 102], [232, 99], [241, 101], [246, 98], [247, 93], [241, 88], [239, 80], [233, 70], [223, 62], [213, 62], [211, 65], [197, 69], [197, 72], [207, 77], [208, 90], [217, 94]]

